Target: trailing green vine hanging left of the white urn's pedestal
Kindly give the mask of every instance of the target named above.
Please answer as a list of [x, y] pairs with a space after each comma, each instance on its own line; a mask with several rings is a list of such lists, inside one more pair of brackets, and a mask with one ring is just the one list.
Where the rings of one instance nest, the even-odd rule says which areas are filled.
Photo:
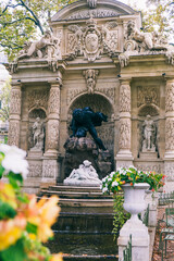
[[114, 239], [116, 238], [119, 231], [122, 228], [124, 223], [130, 217], [130, 214], [126, 213], [123, 208], [123, 201], [124, 201], [124, 197], [122, 194], [114, 195], [114, 204], [113, 204], [114, 220], [113, 220], [113, 231], [112, 231], [114, 233]]

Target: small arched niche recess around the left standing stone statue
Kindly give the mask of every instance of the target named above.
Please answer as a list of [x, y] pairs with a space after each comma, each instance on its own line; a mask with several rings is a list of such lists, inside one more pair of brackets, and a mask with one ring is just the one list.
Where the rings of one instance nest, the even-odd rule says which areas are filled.
[[36, 117], [40, 117], [44, 122], [44, 128], [46, 133], [46, 121], [47, 121], [47, 114], [46, 110], [44, 108], [34, 108], [29, 110], [28, 113], [28, 149], [33, 148], [34, 146], [34, 139], [33, 139], [33, 124], [36, 121]]

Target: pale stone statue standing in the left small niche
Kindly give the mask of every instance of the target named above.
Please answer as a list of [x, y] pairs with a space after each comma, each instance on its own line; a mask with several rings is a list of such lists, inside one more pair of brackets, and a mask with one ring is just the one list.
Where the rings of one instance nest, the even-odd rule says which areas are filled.
[[33, 135], [34, 135], [34, 147], [33, 149], [42, 150], [44, 149], [44, 124], [40, 121], [40, 117], [36, 119], [36, 122], [33, 125]]

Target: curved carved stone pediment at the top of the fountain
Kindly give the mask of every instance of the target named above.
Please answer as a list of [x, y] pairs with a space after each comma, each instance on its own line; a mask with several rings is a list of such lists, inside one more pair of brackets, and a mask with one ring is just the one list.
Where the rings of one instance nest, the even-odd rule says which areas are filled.
[[89, 18], [92, 15], [97, 17], [113, 17], [120, 15], [135, 14], [128, 5], [114, 0], [80, 0], [66, 5], [53, 15], [51, 22], [62, 20], [82, 20]]

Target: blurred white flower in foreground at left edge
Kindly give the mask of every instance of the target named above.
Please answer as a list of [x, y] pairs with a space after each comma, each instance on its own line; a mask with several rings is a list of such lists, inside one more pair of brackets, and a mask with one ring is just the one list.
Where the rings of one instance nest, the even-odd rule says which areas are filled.
[[0, 151], [4, 153], [2, 166], [8, 172], [22, 174], [26, 178], [28, 174], [28, 162], [25, 160], [26, 152], [15, 146], [0, 145]]

